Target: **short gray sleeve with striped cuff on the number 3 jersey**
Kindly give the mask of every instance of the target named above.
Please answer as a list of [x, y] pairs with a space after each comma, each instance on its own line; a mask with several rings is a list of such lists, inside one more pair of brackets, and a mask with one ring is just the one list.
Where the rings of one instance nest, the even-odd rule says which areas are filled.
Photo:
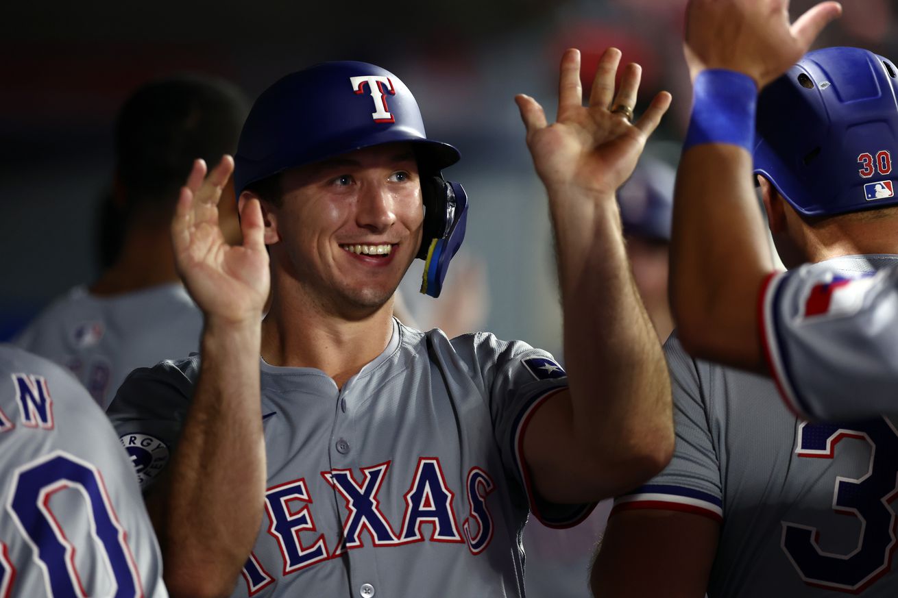
[[723, 520], [723, 486], [712, 429], [714, 406], [702, 391], [700, 367], [683, 351], [676, 335], [665, 343], [674, 393], [674, 458], [646, 484], [614, 501], [612, 514], [625, 509], [666, 509]]

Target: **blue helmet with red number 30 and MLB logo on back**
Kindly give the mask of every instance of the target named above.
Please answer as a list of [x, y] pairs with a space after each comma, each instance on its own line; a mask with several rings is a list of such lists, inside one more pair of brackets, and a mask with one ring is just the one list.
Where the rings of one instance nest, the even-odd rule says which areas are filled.
[[754, 171], [803, 215], [898, 204], [898, 68], [861, 48], [809, 52], [758, 98]]

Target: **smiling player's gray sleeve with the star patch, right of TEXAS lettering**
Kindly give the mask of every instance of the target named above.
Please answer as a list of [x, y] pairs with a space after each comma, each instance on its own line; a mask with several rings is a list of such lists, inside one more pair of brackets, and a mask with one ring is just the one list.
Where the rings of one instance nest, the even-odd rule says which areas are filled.
[[528, 506], [541, 523], [570, 527], [593, 510], [589, 505], [559, 505], [543, 500], [533, 488], [524, 462], [524, 434], [541, 404], [568, 388], [568, 374], [549, 353], [521, 342], [504, 342], [491, 334], [471, 337], [476, 363], [485, 388], [493, 431], [506, 478], [525, 494]]

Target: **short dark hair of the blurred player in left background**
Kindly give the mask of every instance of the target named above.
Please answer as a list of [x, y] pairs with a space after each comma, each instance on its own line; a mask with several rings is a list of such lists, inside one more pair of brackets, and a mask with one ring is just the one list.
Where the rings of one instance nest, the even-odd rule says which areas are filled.
[[235, 85], [207, 75], [174, 75], [137, 89], [115, 126], [116, 168], [128, 211], [173, 206], [195, 159], [211, 169], [222, 154], [234, 153], [248, 110]]

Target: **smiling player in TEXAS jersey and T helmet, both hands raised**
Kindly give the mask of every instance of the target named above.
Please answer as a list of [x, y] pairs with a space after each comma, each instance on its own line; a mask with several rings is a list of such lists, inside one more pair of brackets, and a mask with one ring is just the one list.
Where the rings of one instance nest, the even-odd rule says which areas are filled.
[[669, 385], [614, 191], [670, 96], [631, 124], [639, 68], [615, 97], [620, 59], [605, 53], [584, 108], [566, 52], [552, 127], [516, 99], [549, 190], [569, 379], [523, 342], [392, 318], [416, 256], [439, 294], [467, 217], [440, 175], [457, 150], [427, 139], [392, 73], [324, 63], [260, 96], [236, 156], [242, 247], [215, 226], [233, 163], [205, 181], [198, 163], [172, 234], [201, 356], [136, 371], [110, 407], [173, 595], [520, 596], [528, 511], [576, 523], [664, 466]]

